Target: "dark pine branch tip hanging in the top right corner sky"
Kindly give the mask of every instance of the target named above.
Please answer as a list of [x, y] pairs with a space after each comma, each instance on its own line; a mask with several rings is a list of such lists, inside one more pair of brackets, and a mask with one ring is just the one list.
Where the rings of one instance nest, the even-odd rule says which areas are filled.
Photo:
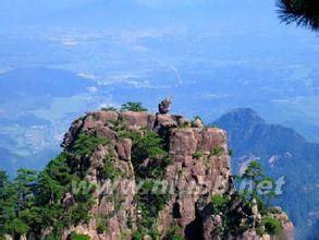
[[278, 8], [282, 22], [295, 22], [297, 25], [319, 29], [318, 0], [278, 0]]

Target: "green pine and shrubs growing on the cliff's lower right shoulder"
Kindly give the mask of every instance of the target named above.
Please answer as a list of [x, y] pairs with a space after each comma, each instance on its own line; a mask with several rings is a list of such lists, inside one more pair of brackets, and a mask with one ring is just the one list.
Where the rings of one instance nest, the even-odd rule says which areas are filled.
[[[222, 217], [222, 226], [218, 229], [222, 238], [228, 238], [228, 235], [241, 236], [249, 228], [256, 228], [258, 235], [263, 233], [263, 227], [269, 235], [278, 235], [281, 230], [279, 220], [270, 217], [269, 214], [274, 209], [269, 207], [269, 197], [272, 197], [273, 191], [263, 194], [259, 191], [258, 185], [261, 182], [273, 182], [269, 177], [263, 173], [262, 167], [258, 161], [251, 161], [246, 168], [243, 176], [237, 177], [240, 180], [251, 180], [251, 191], [236, 191], [232, 195], [213, 195], [211, 197], [210, 213], [212, 215], [220, 215]], [[259, 213], [262, 215], [262, 223], [255, 226], [251, 216], [251, 202], [257, 200]], [[236, 206], [236, 207], [233, 207]]]

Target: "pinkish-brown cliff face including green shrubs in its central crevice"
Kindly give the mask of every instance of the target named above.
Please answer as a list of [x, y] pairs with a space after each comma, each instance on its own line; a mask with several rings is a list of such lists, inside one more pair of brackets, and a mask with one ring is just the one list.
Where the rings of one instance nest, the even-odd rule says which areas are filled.
[[[74, 153], [88, 136], [98, 144], [68, 163], [94, 185], [90, 219], [65, 228], [62, 239], [71, 232], [90, 239], [218, 239], [223, 215], [210, 211], [217, 194], [231, 196], [240, 220], [250, 214], [258, 221], [258, 213], [242, 211], [232, 193], [223, 130], [182, 116], [97, 111], [74, 121], [62, 146]], [[72, 192], [65, 194], [65, 211], [76, 204]], [[259, 239], [249, 227], [229, 237]]]

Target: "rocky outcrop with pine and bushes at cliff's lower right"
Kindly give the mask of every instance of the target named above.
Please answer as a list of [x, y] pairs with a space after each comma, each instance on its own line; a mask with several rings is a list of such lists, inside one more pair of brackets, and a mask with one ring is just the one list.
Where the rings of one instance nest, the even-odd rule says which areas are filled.
[[[237, 190], [234, 193], [211, 197], [211, 214], [214, 218], [221, 218], [217, 226], [218, 236], [226, 239], [230, 235], [241, 236], [249, 229], [255, 229], [260, 237], [265, 233], [280, 235], [282, 224], [270, 205], [270, 200], [275, 195], [274, 180], [267, 177], [261, 165], [255, 160], [242, 176], [236, 176], [236, 181]], [[248, 188], [243, 188], [243, 182]], [[277, 211], [277, 214], [282, 212]]]

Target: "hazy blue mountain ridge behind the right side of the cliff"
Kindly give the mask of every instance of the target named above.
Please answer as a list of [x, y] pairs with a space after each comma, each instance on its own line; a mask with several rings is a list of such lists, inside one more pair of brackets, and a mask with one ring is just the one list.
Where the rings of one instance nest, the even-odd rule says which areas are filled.
[[286, 184], [278, 202], [291, 215], [298, 239], [314, 239], [319, 216], [319, 144], [307, 142], [293, 129], [266, 123], [249, 108], [235, 109], [213, 124], [228, 132], [234, 172], [255, 158], [273, 177], [284, 176]]

